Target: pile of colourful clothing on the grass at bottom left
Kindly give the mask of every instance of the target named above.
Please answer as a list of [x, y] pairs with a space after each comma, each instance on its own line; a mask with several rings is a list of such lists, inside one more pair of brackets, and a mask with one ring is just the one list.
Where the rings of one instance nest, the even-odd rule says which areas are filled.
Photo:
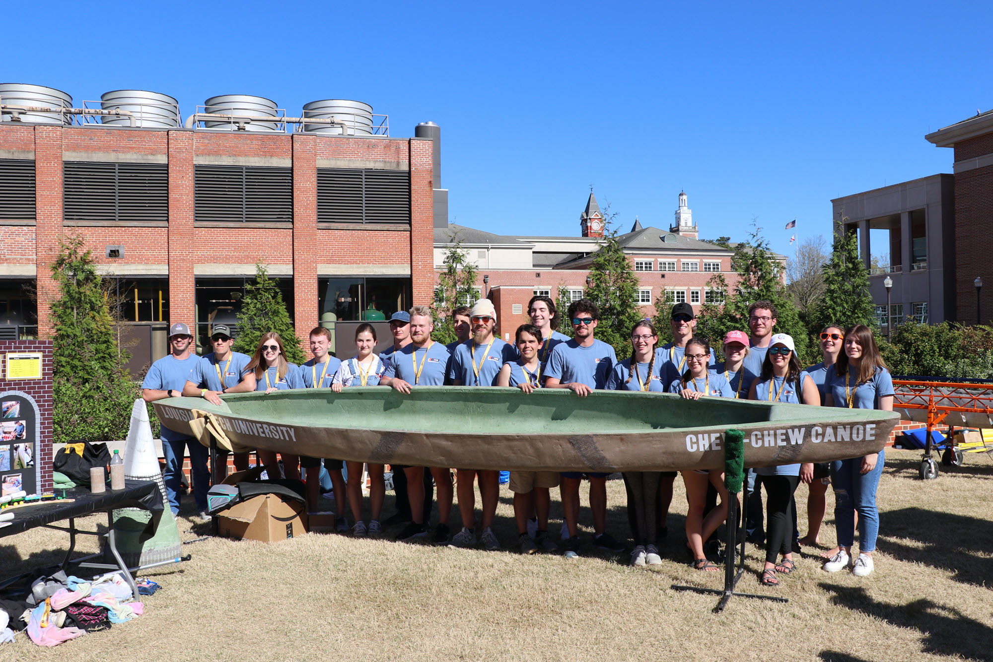
[[[159, 585], [136, 582], [138, 592], [152, 595]], [[23, 600], [0, 599], [0, 643], [14, 641], [18, 632], [39, 646], [58, 646], [87, 632], [124, 623], [144, 610], [120, 575], [108, 575], [92, 583], [58, 573], [31, 583]]]

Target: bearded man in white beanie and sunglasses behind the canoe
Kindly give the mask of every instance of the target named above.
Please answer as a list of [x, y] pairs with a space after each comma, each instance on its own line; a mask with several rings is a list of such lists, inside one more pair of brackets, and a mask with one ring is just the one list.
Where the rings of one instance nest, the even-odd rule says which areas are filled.
[[[494, 334], [497, 330], [497, 309], [489, 299], [476, 302], [470, 312], [469, 323], [473, 337], [455, 347], [449, 362], [448, 377], [456, 386], [497, 386], [500, 368], [507, 361], [517, 360], [517, 350]], [[499, 501], [499, 471], [459, 468], [457, 475], [462, 530], [452, 538], [452, 546], [476, 545], [476, 492], [473, 480], [479, 475], [480, 495], [483, 497], [483, 533], [480, 538], [488, 550], [498, 550], [499, 541], [492, 527]]]

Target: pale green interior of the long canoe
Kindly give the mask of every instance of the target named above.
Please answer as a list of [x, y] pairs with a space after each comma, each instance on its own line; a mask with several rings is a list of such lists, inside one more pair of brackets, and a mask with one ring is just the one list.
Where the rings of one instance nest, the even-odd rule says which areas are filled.
[[595, 391], [580, 398], [564, 389], [526, 395], [516, 388], [466, 386], [420, 387], [409, 395], [388, 387], [352, 387], [341, 393], [309, 389], [225, 395], [223, 400], [219, 408], [199, 398], [169, 404], [208, 412], [229, 410], [239, 418], [301, 427], [496, 435], [624, 434], [790, 421], [854, 423], [883, 414], [730, 398], [686, 400], [669, 393]]

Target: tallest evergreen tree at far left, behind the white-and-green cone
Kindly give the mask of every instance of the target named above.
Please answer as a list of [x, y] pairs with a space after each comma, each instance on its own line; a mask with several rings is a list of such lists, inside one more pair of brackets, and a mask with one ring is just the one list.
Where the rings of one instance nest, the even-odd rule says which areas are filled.
[[74, 235], [59, 243], [52, 275], [60, 297], [51, 307], [53, 338], [53, 435], [103, 442], [123, 439], [129, 411], [140, 396], [122, 367], [120, 350], [93, 256]]

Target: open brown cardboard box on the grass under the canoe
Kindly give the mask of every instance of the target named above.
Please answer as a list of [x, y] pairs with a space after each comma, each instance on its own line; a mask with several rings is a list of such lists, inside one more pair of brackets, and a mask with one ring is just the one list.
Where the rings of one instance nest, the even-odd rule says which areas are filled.
[[217, 515], [217, 533], [235, 540], [271, 543], [307, 533], [307, 508], [279, 494], [259, 494]]

